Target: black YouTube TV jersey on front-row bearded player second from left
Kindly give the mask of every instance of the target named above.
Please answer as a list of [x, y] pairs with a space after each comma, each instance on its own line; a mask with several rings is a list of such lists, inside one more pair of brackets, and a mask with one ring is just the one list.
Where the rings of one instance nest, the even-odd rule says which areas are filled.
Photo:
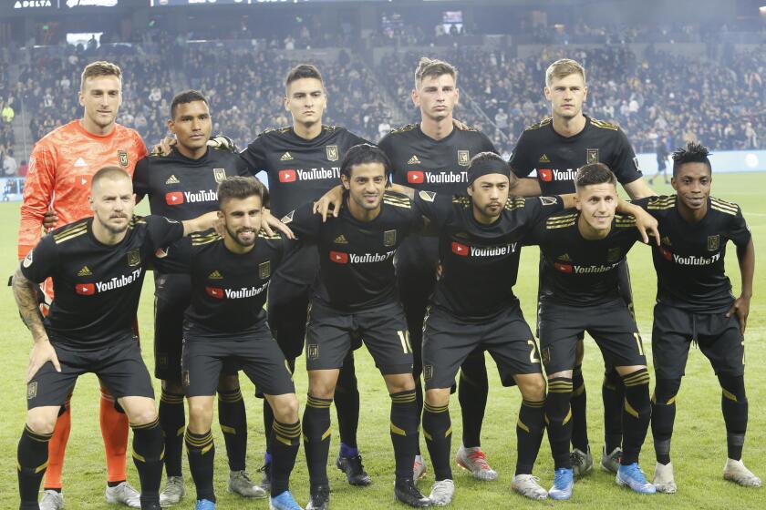
[[184, 331], [203, 337], [257, 331], [266, 320], [269, 281], [284, 255], [282, 237], [261, 230], [254, 249], [243, 254], [227, 249], [212, 230], [184, 241], [191, 245], [191, 306]]

